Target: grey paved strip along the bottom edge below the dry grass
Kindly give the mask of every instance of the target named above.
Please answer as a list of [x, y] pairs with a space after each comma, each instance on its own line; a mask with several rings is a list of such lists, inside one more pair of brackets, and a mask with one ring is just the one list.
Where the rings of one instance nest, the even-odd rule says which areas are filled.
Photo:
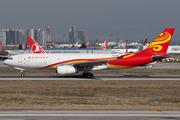
[[0, 120], [176, 120], [180, 111], [118, 110], [8, 110], [0, 111]]

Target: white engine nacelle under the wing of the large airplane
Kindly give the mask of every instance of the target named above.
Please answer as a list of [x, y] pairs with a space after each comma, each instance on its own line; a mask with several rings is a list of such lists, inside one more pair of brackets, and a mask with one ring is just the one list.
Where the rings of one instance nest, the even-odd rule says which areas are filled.
[[57, 66], [56, 73], [60, 75], [65, 75], [65, 74], [78, 73], [78, 70], [77, 68], [68, 65]]

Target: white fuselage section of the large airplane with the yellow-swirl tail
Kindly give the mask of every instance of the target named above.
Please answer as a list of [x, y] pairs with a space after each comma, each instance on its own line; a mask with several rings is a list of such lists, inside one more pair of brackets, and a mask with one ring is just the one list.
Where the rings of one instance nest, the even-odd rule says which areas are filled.
[[[97, 59], [97, 58], [111, 58], [120, 56], [117, 54], [19, 54], [11, 56], [6, 59], [4, 64], [19, 70], [43, 69], [51, 68], [56, 69], [56, 66], [61, 64], [69, 64], [71, 60], [78, 62], [78, 59]], [[73, 64], [73, 63], [72, 63]]]

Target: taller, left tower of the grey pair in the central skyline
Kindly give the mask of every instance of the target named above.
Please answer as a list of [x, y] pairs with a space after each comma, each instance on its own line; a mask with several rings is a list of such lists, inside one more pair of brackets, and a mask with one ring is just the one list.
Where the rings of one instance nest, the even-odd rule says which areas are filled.
[[69, 43], [75, 43], [77, 39], [77, 27], [73, 25], [69, 28]]

